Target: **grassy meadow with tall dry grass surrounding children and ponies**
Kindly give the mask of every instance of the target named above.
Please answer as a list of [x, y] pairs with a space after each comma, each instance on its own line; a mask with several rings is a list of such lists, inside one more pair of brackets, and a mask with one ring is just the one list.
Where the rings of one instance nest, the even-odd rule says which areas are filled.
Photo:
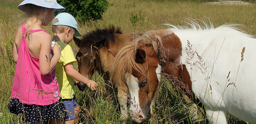
[[[143, 33], [148, 30], [169, 28], [162, 24], [185, 25], [187, 18], [208, 20], [215, 27], [223, 24], [241, 24], [239, 27], [247, 34], [256, 36], [255, 5], [205, 4], [196, 0], [108, 0], [111, 5], [97, 22], [79, 22], [81, 34], [96, 28], [110, 25], [120, 27], [125, 34]], [[11, 99], [12, 82], [16, 64], [12, 59], [12, 47], [16, 29], [22, 24], [23, 12], [17, 6], [22, 0], [0, 0], [0, 124], [21, 124], [19, 118], [8, 111]], [[255, 1], [250, 1], [255, 3]], [[137, 15], [137, 16], [136, 16]], [[185, 22], [184, 22], [185, 21]], [[42, 28], [53, 35], [51, 24]], [[78, 47], [72, 41], [74, 54]], [[75, 65], [77, 68], [77, 65]], [[82, 124], [121, 124], [134, 123], [120, 119], [117, 90], [112, 82], [105, 83], [102, 74], [95, 73], [99, 89], [96, 92], [81, 92], [76, 88], [75, 95], [81, 111], [79, 123]], [[149, 115], [143, 124], [208, 124], [204, 112], [199, 109], [198, 119], [189, 114], [190, 104], [185, 103], [177, 88], [171, 82], [162, 79], [157, 89], [153, 115]], [[229, 124], [246, 124], [230, 117]]]

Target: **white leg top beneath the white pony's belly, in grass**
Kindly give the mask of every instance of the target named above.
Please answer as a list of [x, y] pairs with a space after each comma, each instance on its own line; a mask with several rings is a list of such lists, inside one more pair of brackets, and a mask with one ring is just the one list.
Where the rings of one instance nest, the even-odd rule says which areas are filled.
[[227, 112], [222, 109], [219, 111], [207, 109], [206, 117], [212, 124], [227, 124]]

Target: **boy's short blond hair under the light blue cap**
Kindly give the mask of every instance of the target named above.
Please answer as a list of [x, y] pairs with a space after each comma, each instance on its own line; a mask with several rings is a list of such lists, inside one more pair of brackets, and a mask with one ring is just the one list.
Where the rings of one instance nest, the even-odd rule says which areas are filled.
[[[56, 23], [56, 22], [59, 22], [59, 19], [54, 19], [52, 21], [52, 23]], [[65, 30], [67, 30], [68, 28], [70, 28], [70, 31], [69, 32], [76, 32], [76, 29], [73, 28], [73, 27], [70, 27], [70, 26], [64, 26], [64, 25], [58, 25], [58, 26], [52, 26], [52, 32], [54, 34], [61, 34], [61, 33], [64, 33]]]

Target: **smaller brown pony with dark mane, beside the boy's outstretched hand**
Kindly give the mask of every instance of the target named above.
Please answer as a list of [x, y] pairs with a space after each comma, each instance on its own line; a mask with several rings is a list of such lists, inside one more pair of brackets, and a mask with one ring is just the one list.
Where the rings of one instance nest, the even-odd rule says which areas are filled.
[[[131, 42], [133, 34], [123, 34], [120, 28], [111, 26], [105, 29], [96, 29], [85, 34], [82, 39], [74, 37], [79, 47], [76, 59], [78, 61], [79, 73], [91, 79], [95, 71], [105, 73], [104, 80], [109, 80], [109, 71], [113, 64], [114, 56], [109, 52], [111, 49], [120, 50], [125, 43]], [[124, 82], [114, 82], [117, 88], [117, 97], [120, 102], [121, 118], [127, 119], [127, 85]], [[79, 90], [85, 90], [85, 84], [78, 84]]]

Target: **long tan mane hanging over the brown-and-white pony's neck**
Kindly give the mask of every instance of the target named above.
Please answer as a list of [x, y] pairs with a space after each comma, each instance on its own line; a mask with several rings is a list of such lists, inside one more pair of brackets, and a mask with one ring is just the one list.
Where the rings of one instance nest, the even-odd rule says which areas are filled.
[[[159, 44], [162, 45], [162, 37], [170, 35], [173, 32], [170, 30], [151, 30], [145, 32], [143, 35], [135, 35], [133, 38], [134, 42], [129, 42], [117, 53], [115, 56], [112, 70], [110, 71], [111, 78], [114, 82], [125, 81], [125, 73], [131, 76], [132, 71], [137, 71], [142, 75], [141, 68], [138, 63], [135, 62], [135, 55], [138, 48], [142, 46], [151, 46], [152, 49], [157, 53]], [[157, 42], [159, 41], [159, 42]]]

